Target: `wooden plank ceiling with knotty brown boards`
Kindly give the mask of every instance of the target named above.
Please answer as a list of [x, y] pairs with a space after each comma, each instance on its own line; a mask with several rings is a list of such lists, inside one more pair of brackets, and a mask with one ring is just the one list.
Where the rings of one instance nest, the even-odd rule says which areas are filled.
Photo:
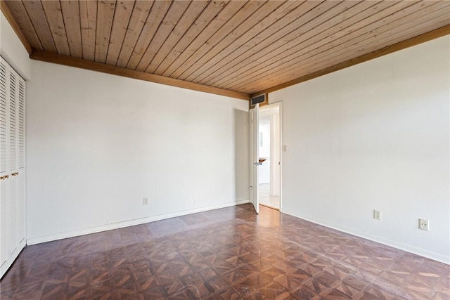
[[245, 94], [320, 74], [439, 28], [439, 35], [449, 34], [450, 25], [450, 1], [46, 0], [6, 5], [35, 53]]

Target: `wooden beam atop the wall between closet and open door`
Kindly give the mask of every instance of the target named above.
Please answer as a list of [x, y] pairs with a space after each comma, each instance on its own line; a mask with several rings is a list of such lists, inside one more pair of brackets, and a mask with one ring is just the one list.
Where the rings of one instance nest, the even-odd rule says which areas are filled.
[[56, 63], [58, 65], [66, 65], [69, 67], [78, 67], [84, 70], [91, 70], [96, 72], [103, 72], [106, 74], [113, 74], [122, 77], [139, 79], [144, 81], [155, 82], [158, 84], [165, 84], [168, 86], [176, 86], [183, 89], [190, 89], [193, 91], [202, 91], [205, 93], [213, 93], [215, 95], [226, 96], [231, 98], [238, 98], [242, 100], [250, 100], [250, 95], [246, 93], [238, 93], [236, 91], [229, 91], [226, 89], [219, 89], [212, 86], [205, 86], [203, 84], [195, 84], [193, 82], [183, 81], [179, 79], [164, 77], [146, 72], [136, 70], [129, 70], [124, 67], [117, 67], [115, 65], [107, 65], [105, 63], [96, 63], [82, 58], [73, 58], [70, 56], [63, 56], [57, 53], [51, 53], [41, 50], [33, 50], [30, 58], [40, 60], [47, 63]]

